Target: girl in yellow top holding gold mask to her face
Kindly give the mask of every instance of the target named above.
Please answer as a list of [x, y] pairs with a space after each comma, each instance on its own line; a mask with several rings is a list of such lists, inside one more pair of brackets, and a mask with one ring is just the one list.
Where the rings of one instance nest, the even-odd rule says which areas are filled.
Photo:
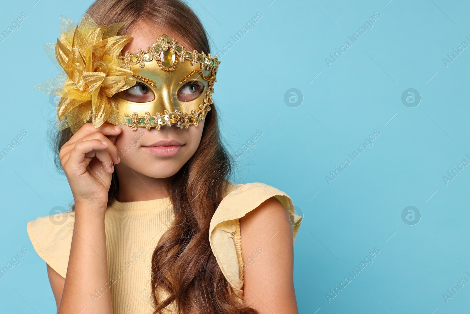
[[[93, 21], [108, 25], [104, 34]], [[86, 58], [90, 39], [80, 36], [95, 34], [103, 35], [96, 45], [107, 46]], [[105, 62], [114, 60], [111, 40], [127, 60], [119, 69]], [[144, 56], [145, 47], [160, 55]], [[211, 100], [220, 62], [208, 51], [201, 22], [180, 0], [97, 0], [58, 41], [57, 61], [75, 82], [62, 94], [58, 115], [67, 128], [56, 138], [74, 205], [27, 226], [47, 263], [57, 313], [298, 313], [293, 244], [301, 217], [286, 193], [227, 179], [232, 156]], [[82, 58], [68, 62], [78, 52]], [[67, 68], [82, 62], [86, 72]], [[90, 101], [73, 105], [70, 89]], [[187, 110], [163, 110], [174, 103]], [[130, 114], [149, 104], [165, 114]], [[118, 113], [131, 108], [125, 123], [106, 111], [116, 105]]]

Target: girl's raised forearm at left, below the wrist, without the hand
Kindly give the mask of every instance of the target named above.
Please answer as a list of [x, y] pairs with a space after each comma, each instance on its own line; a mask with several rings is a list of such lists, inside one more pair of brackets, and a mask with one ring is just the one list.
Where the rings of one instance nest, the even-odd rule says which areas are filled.
[[58, 313], [112, 314], [110, 289], [103, 288], [109, 287], [108, 282], [104, 210], [76, 208], [69, 265]]

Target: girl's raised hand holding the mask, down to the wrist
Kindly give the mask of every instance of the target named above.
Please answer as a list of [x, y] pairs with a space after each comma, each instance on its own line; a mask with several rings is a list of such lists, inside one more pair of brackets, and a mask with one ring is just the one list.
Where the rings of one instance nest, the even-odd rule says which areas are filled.
[[[120, 161], [115, 137], [122, 129], [103, 123], [98, 129], [84, 124], [61, 148], [59, 158], [69, 181], [76, 208], [103, 209], [108, 203], [111, 173]], [[77, 206], [79, 204], [79, 206]]]

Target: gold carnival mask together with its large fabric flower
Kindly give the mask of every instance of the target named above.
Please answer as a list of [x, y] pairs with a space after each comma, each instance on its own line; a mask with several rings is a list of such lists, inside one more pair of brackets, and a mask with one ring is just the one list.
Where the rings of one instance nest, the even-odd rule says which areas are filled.
[[60, 98], [58, 130], [75, 133], [91, 121], [131, 129], [160, 129], [177, 123], [197, 126], [211, 110], [213, 85], [220, 61], [217, 55], [188, 51], [166, 35], [147, 50], [121, 50], [133, 39], [117, 35], [124, 23], [98, 25], [85, 14], [75, 25], [60, 16], [61, 37], [43, 47], [58, 70], [55, 78], [35, 88]]

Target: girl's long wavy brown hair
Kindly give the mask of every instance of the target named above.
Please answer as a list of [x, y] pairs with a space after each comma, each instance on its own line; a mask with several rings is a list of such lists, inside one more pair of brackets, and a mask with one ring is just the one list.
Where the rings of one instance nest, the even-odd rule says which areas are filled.
[[[97, 24], [124, 22], [118, 35], [129, 34], [144, 20], [147, 25], [171, 29], [198, 51], [210, 51], [203, 25], [181, 0], [96, 0], [87, 13]], [[55, 165], [63, 171], [59, 152], [73, 134], [68, 128], [50, 135], [53, 137]], [[172, 302], [175, 302], [178, 314], [258, 313], [235, 300], [235, 292], [209, 244], [209, 224], [220, 201], [226, 196], [233, 165], [233, 156], [227, 153], [220, 138], [214, 104], [205, 118], [199, 147], [168, 183], [175, 220], [161, 236], [152, 255], [153, 314], [163, 314]], [[116, 197], [118, 189], [118, 177], [114, 172], [108, 205]], [[160, 300], [159, 289], [166, 290], [169, 296]]]

